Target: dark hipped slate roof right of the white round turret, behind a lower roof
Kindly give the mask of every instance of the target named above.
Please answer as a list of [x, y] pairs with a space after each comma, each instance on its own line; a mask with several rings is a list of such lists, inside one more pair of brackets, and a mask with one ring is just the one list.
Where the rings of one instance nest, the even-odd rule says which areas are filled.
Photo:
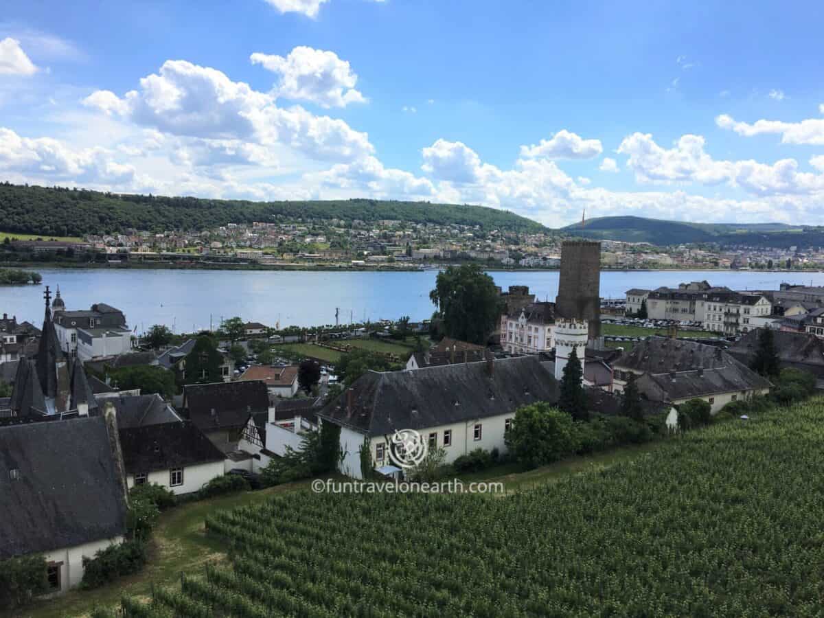
[[637, 342], [631, 350], [621, 354], [613, 361], [613, 367], [660, 373], [722, 367], [730, 360], [727, 353], [712, 345], [653, 336]]

